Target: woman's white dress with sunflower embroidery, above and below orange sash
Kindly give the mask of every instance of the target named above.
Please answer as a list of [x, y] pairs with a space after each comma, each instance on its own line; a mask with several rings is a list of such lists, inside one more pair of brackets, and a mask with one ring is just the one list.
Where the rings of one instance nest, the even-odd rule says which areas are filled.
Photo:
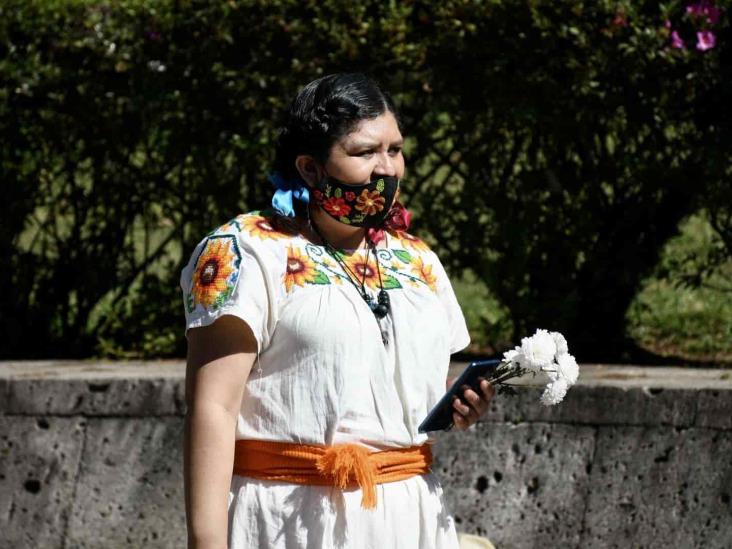
[[[234, 315], [259, 346], [237, 439], [374, 450], [432, 442], [417, 427], [445, 391], [450, 354], [469, 342], [450, 281], [427, 245], [404, 232], [388, 233], [376, 257], [342, 258], [374, 299], [387, 290], [384, 319], [322, 246], [276, 231], [257, 212], [193, 252], [181, 274], [186, 328]], [[432, 474], [379, 485], [377, 498], [376, 510], [364, 510], [358, 489], [234, 476], [230, 547], [457, 547]]]

